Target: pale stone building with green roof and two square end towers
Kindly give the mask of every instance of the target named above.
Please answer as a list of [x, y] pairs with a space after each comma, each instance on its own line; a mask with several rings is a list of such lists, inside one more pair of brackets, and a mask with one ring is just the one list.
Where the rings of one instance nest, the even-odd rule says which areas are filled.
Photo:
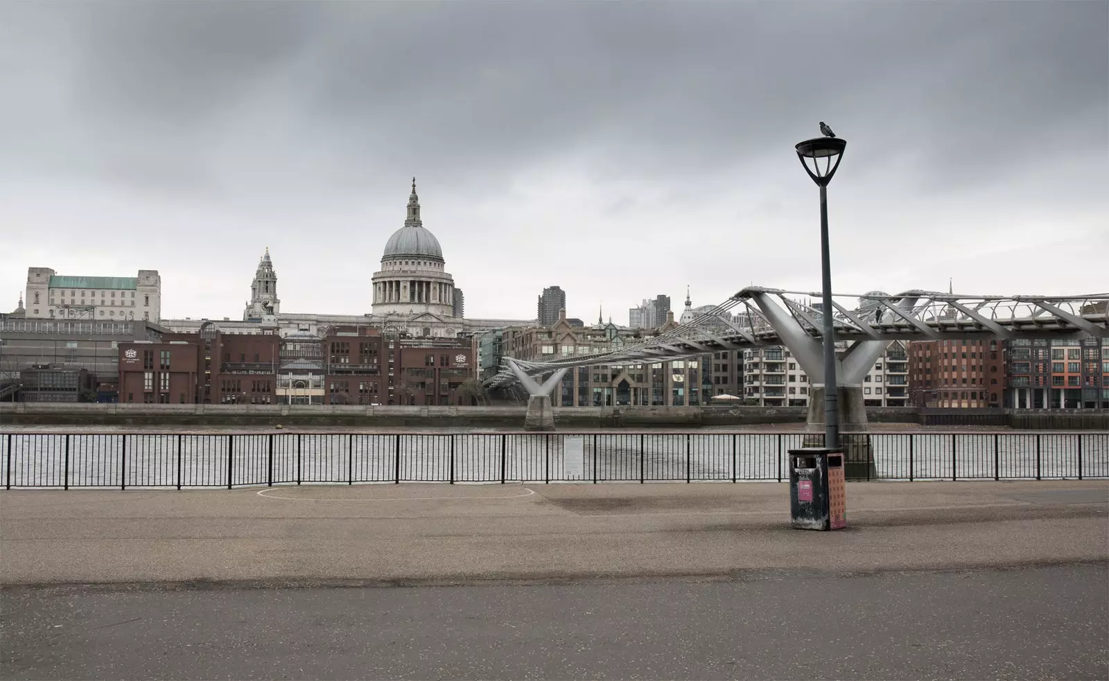
[[157, 270], [140, 270], [139, 276], [63, 276], [50, 267], [28, 267], [26, 316], [159, 322], [162, 277]]

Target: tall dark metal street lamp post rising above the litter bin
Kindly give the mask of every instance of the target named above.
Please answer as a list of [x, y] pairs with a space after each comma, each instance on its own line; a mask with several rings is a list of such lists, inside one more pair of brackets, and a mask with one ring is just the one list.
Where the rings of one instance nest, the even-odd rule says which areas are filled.
[[840, 167], [847, 141], [834, 136], [832, 130], [821, 123], [822, 138], [798, 142], [797, 159], [813, 182], [821, 187], [821, 286], [824, 289], [821, 304], [824, 340], [824, 446], [840, 446], [838, 390], [835, 376], [835, 328], [832, 321], [832, 272], [828, 264], [828, 197], [827, 186]]

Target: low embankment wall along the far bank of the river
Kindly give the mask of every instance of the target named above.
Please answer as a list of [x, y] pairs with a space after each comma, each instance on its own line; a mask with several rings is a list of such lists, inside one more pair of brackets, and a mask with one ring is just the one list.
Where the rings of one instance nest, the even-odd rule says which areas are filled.
[[[277, 426], [522, 428], [526, 407], [147, 405], [0, 403], [0, 427]], [[556, 407], [558, 428], [650, 428], [803, 424], [805, 407]], [[868, 408], [872, 424], [1109, 430], [1109, 410]]]

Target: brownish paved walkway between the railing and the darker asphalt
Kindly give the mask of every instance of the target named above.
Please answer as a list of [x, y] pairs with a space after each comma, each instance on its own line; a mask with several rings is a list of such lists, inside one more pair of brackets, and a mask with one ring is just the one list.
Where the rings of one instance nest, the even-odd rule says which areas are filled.
[[848, 528], [779, 484], [0, 492], [0, 583], [459, 583], [1109, 560], [1109, 481], [859, 482]]

